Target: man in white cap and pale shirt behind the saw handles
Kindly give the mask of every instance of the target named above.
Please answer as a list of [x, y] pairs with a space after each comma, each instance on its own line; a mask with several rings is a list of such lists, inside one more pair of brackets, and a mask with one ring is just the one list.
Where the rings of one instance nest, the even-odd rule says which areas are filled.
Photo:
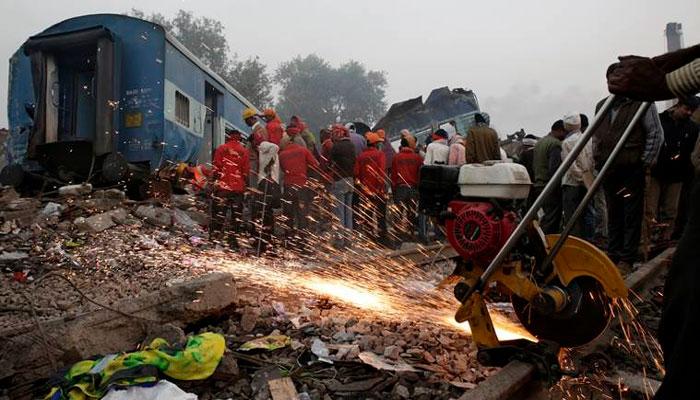
[[[583, 134], [581, 133], [581, 115], [571, 113], [563, 118], [566, 139], [561, 144], [561, 159], [564, 160], [571, 153]], [[566, 225], [572, 218], [588, 187], [593, 182], [593, 146], [588, 142], [579, 153], [576, 161], [564, 173], [561, 180], [563, 224]], [[586, 210], [574, 224], [571, 234], [588, 241], [593, 239], [595, 222], [590, 218]]]

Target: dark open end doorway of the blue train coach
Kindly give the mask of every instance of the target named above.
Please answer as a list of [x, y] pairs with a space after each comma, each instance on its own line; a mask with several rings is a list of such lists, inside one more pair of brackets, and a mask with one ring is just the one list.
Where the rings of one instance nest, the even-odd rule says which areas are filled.
[[119, 104], [112, 33], [95, 27], [35, 36], [24, 52], [32, 63], [36, 100], [30, 155], [60, 158], [68, 149], [75, 160], [112, 152]]

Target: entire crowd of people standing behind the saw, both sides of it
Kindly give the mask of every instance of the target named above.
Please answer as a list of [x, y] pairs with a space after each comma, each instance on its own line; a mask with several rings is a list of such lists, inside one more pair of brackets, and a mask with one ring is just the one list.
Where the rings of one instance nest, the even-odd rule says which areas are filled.
[[[573, 224], [573, 235], [605, 249], [622, 272], [633, 269], [653, 244], [667, 243], [682, 231], [694, 176], [691, 154], [698, 141], [691, 116], [699, 103], [696, 97], [685, 98], [661, 114], [652, 105], [602, 189]], [[539, 224], [545, 233], [561, 232], [572, 218], [640, 104], [618, 98], [601, 117], [593, 140], [543, 203]], [[565, 115], [547, 135], [526, 135], [520, 149], [506, 155], [483, 113], [474, 115], [468, 132], [437, 129], [424, 143], [404, 129], [398, 151], [381, 129], [359, 132], [354, 124], [335, 124], [321, 129], [317, 141], [297, 116], [285, 125], [272, 109], [262, 115], [246, 109], [243, 120], [252, 133], [244, 138], [228, 130], [211, 171], [195, 175], [213, 189], [212, 235], [226, 236], [234, 247], [240, 237], [253, 239], [258, 252], [276, 245], [310, 251], [310, 238], [322, 234], [340, 249], [358, 238], [387, 247], [441, 238], [418, 210], [422, 165], [514, 160], [530, 174], [531, 205], [589, 123], [584, 114]], [[244, 208], [250, 210], [247, 230]], [[224, 229], [229, 214], [230, 229]]]

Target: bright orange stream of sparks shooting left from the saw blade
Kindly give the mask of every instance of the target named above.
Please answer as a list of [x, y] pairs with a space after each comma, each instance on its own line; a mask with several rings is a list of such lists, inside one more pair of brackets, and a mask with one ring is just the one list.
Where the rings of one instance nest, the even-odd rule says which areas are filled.
[[[375, 249], [376, 250], [376, 249]], [[319, 254], [315, 262], [299, 259], [232, 259], [229, 253], [211, 253], [192, 260], [209, 268], [231, 272], [241, 282], [267, 287], [280, 298], [328, 298], [360, 311], [364, 316], [395, 321], [421, 321], [470, 334], [468, 323], [454, 319], [459, 303], [451, 291], [437, 289], [439, 279], [406, 260], [388, 257], [369, 259], [370, 249]], [[351, 261], [353, 260], [353, 261]], [[513, 319], [491, 309], [501, 340], [536, 340]]]

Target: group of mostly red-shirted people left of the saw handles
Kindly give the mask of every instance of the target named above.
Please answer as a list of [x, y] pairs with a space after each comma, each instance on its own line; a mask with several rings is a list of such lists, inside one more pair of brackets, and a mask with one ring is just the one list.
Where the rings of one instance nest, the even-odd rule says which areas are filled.
[[[403, 130], [398, 152], [381, 129], [360, 134], [354, 124], [335, 124], [320, 131], [317, 145], [297, 116], [285, 126], [273, 109], [249, 108], [242, 119], [251, 134], [227, 129], [211, 170], [197, 167], [195, 175], [208, 185], [196, 186], [211, 188], [212, 239], [234, 249], [251, 243], [258, 254], [277, 245], [311, 252], [310, 235], [328, 234], [338, 249], [357, 240], [386, 247], [427, 242], [428, 223], [418, 210], [421, 166], [502, 158], [498, 135], [482, 114], [466, 136], [438, 129], [418, 143]], [[391, 229], [389, 215], [396, 216]]]

